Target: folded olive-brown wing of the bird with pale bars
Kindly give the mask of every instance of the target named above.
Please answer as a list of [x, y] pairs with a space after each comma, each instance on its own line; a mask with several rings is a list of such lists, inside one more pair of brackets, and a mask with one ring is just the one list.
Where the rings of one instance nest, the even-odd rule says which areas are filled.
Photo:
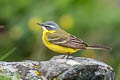
[[86, 46], [88, 46], [86, 43], [84, 43], [82, 40], [79, 38], [65, 33], [54, 33], [48, 36], [49, 42], [60, 45], [63, 47], [68, 47], [68, 48], [73, 48], [73, 49], [85, 49]]

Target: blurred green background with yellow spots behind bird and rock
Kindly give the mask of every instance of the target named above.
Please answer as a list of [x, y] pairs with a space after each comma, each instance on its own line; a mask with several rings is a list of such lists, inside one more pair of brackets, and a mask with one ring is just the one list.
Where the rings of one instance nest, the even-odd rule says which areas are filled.
[[56, 54], [42, 41], [37, 22], [55, 21], [91, 45], [112, 51], [84, 50], [72, 56], [111, 65], [120, 79], [119, 0], [0, 0], [0, 60], [48, 60]]

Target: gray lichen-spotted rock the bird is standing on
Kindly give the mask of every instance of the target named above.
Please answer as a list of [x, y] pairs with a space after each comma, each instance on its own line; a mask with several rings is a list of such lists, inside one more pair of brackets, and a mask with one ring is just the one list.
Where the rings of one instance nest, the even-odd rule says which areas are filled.
[[112, 67], [103, 62], [84, 57], [62, 57], [40, 62], [0, 62], [0, 77], [9, 76], [12, 80], [114, 80]]

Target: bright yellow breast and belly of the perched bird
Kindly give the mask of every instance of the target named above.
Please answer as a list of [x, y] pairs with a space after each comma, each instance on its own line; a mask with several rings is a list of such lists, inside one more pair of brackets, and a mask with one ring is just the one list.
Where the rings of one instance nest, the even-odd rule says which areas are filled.
[[43, 40], [43, 43], [45, 44], [45, 46], [48, 47], [50, 50], [57, 52], [57, 53], [62, 53], [62, 54], [67, 54], [67, 53], [72, 54], [79, 50], [79, 49], [62, 47], [62, 46], [55, 45], [55, 44], [49, 42], [47, 39], [47, 36], [46, 36], [47, 33], [48, 33], [47, 31], [43, 32], [42, 40]]

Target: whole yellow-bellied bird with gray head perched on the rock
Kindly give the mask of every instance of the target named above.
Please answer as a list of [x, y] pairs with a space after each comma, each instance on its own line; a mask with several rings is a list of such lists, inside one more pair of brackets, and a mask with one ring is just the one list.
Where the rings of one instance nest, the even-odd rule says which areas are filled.
[[102, 46], [90, 46], [83, 40], [62, 30], [55, 22], [37, 23], [43, 28], [43, 43], [52, 51], [67, 55], [84, 49], [110, 50]]

